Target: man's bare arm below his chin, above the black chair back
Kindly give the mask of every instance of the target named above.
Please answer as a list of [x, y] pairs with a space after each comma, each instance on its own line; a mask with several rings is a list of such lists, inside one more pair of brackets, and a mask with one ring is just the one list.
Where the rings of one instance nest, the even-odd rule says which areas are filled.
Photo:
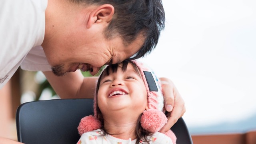
[[84, 77], [80, 70], [65, 76], [55, 76], [51, 71], [43, 72], [60, 98], [93, 98], [98, 77]]

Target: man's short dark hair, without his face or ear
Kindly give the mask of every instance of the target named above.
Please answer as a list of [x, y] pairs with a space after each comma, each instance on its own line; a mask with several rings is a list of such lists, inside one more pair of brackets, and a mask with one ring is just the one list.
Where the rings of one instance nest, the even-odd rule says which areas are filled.
[[133, 42], [140, 32], [146, 37], [134, 59], [151, 52], [164, 28], [165, 13], [162, 0], [71, 0], [86, 4], [111, 4], [115, 13], [105, 29], [107, 39], [120, 36], [126, 44]]

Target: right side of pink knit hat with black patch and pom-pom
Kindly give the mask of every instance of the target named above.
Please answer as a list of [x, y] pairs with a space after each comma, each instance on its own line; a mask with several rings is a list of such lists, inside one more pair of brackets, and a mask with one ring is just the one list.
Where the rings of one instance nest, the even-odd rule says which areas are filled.
[[164, 96], [160, 81], [148, 66], [138, 61], [132, 62], [139, 68], [148, 93], [149, 109], [144, 111], [141, 116], [141, 126], [149, 132], [158, 132], [167, 123], [167, 118], [163, 113]]

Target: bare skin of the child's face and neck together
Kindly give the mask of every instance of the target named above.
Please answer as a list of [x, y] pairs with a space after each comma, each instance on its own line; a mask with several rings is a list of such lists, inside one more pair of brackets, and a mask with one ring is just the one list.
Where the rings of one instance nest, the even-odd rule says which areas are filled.
[[[115, 91], [124, 93], [111, 96]], [[145, 84], [131, 64], [125, 72], [120, 66], [117, 72], [102, 77], [97, 100], [108, 133], [116, 138], [135, 139], [136, 122], [148, 109], [148, 100]]]

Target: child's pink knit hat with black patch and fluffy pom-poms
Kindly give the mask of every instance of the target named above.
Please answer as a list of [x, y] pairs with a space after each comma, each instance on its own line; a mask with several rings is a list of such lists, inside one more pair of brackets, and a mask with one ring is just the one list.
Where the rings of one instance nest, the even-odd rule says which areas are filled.
[[[135, 60], [129, 62], [133, 62], [138, 67], [148, 93], [148, 110], [145, 110], [141, 116], [141, 126], [149, 132], [158, 132], [167, 123], [160, 80], [148, 66]], [[97, 118], [96, 107], [97, 98], [94, 96], [94, 116], [85, 116], [81, 119], [78, 126], [80, 135], [101, 128], [101, 122]], [[170, 136], [169, 134], [168, 136]], [[175, 135], [173, 133], [171, 135], [170, 137], [173, 139]]]

